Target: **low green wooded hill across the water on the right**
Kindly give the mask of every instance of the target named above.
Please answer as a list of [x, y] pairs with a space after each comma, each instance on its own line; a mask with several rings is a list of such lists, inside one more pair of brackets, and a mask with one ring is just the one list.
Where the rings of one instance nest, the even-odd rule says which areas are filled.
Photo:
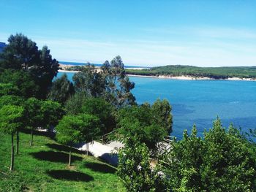
[[209, 77], [213, 79], [227, 79], [231, 77], [256, 79], [256, 66], [222, 66], [222, 67], [198, 67], [198, 66], [157, 66], [151, 69], [133, 70], [127, 69], [127, 74], [147, 76], [189, 76]]

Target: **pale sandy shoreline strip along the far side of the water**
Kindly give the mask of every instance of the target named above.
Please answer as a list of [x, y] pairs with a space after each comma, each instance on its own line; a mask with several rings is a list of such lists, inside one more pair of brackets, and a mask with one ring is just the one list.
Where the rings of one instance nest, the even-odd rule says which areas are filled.
[[[69, 71], [69, 70], [61, 70], [59, 69], [58, 72], [65, 72], [65, 73], [78, 73], [79, 71]], [[190, 77], [190, 76], [166, 76], [166, 75], [139, 75], [139, 74], [127, 74], [128, 77], [148, 77], [148, 78], [157, 78], [157, 79], [170, 79], [170, 80], [243, 80], [243, 81], [256, 81], [250, 78], [238, 78], [238, 77], [230, 77], [227, 79], [214, 79], [209, 77]]]

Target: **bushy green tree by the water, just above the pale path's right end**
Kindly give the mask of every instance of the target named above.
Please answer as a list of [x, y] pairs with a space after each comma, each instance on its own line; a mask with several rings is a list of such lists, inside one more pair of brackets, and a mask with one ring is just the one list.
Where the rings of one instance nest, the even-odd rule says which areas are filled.
[[[162, 108], [160, 106], [165, 108], [163, 113], [159, 111]], [[166, 100], [157, 100], [152, 106], [142, 104], [119, 110], [117, 131], [121, 141], [127, 145], [144, 143], [152, 154], [157, 153], [157, 144], [162, 142], [171, 130], [170, 109]]]

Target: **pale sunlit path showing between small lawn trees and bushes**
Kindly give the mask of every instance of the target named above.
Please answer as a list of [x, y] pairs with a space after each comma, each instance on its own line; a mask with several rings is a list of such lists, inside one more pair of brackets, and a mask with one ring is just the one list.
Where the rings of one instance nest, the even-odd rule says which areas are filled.
[[[124, 145], [121, 142], [110, 142], [108, 145], [102, 145], [100, 142], [89, 143], [89, 152], [94, 155], [94, 157], [102, 158], [109, 164], [118, 164], [117, 150]], [[78, 150], [86, 151], [86, 144], [78, 147]]]

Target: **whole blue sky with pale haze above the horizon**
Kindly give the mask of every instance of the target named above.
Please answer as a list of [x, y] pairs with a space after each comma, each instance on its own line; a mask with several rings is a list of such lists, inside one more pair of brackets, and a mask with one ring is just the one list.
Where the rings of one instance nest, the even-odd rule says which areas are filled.
[[256, 1], [0, 0], [0, 42], [21, 32], [59, 61], [256, 66]]

